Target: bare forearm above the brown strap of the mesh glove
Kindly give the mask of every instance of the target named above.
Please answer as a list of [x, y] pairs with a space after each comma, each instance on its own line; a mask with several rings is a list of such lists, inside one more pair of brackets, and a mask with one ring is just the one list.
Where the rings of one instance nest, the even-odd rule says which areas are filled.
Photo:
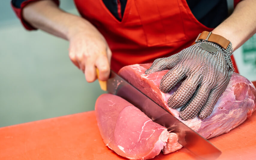
[[239, 2], [234, 12], [212, 32], [230, 40], [234, 50], [256, 33], [256, 1]]

